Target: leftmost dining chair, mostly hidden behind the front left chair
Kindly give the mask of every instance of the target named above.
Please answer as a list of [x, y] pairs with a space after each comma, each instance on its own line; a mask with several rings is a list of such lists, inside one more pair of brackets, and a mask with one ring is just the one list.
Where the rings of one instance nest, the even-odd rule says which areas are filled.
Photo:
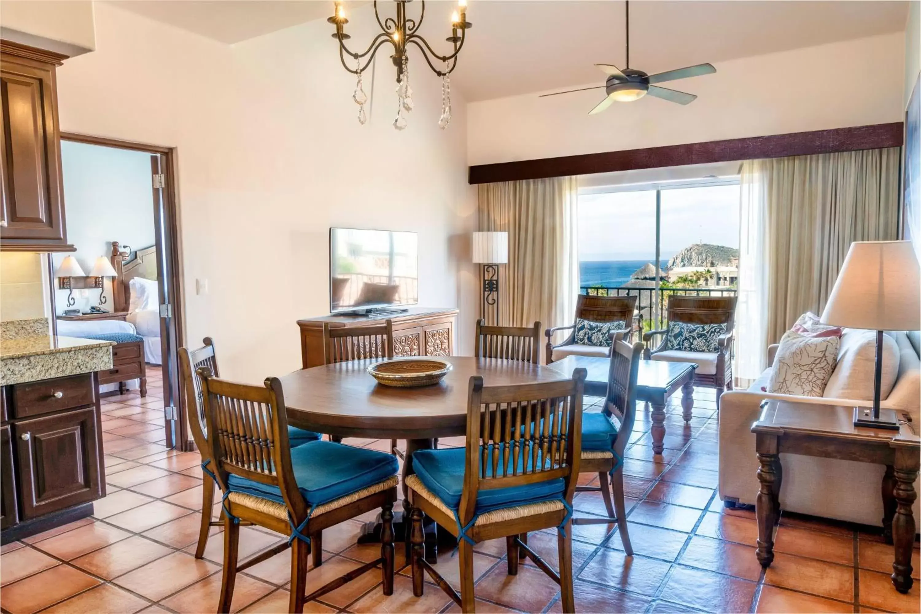
[[[217, 354], [215, 342], [211, 337], [205, 337], [204, 345], [197, 350], [181, 347], [179, 349], [179, 371], [182, 388], [185, 392], [185, 423], [189, 425], [192, 441], [202, 456], [202, 523], [198, 529], [198, 545], [195, 547], [195, 558], [204, 556], [204, 548], [208, 545], [208, 534], [211, 527], [220, 527], [224, 523], [214, 518], [215, 480], [212, 449], [208, 445], [208, 429], [204, 419], [204, 403], [202, 402], [202, 379], [198, 369], [208, 367], [211, 373], [218, 377]], [[308, 441], [320, 439], [320, 434], [305, 431], [293, 426], [288, 427], [288, 441], [292, 446], [299, 446]]]

